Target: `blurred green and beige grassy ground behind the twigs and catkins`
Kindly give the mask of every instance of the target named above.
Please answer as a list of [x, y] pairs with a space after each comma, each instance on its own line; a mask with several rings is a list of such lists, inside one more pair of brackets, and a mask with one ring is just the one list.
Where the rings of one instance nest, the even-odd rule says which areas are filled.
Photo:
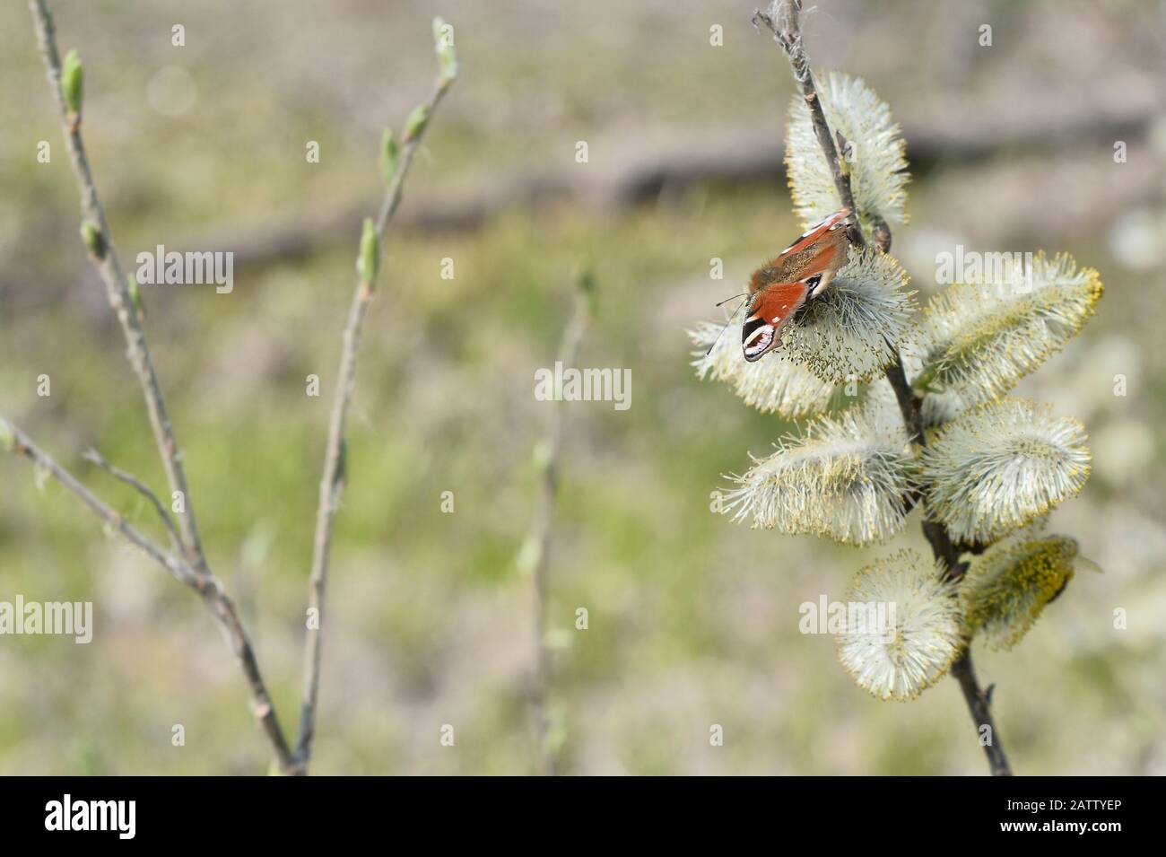
[[[751, 28], [752, 2], [52, 8], [62, 50], [86, 64], [84, 132], [126, 266], [157, 244], [237, 252], [231, 295], [143, 287], [147, 332], [212, 567], [290, 731], [353, 218], [381, 192], [381, 128], [428, 92], [430, 17], [456, 28], [462, 78], [412, 174], [360, 356], [314, 772], [532, 770], [531, 579], [514, 560], [550, 416], [534, 372], [553, 365], [580, 259], [598, 283], [580, 365], [630, 367], [632, 407], [567, 406], [548, 605], [567, 632], [553, 658], [560, 770], [986, 772], [954, 681], [877, 702], [831, 638], [798, 631], [802, 602], [842, 598], [890, 548], [752, 532], [709, 511], [721, 473], [791, 429], [697, 381], [683, 332], [800, 231], [779, 170], [792, 80]], [[177, 23], [184, 48], [171, 45]], [[1017, 773], [1166, 773], [1166, 3], [827, 0], [806, 28], [815, 68], [864, 77], [904, 125], [916, 177], [893, 252], [921, 297], [935, 254], [957, 243], [1068, 251], [1102, 273], [1097, 317], [1020, 392], [1090, 430], [1093, 479], [1052, 529], [1103, 574], [1079, 572], [1013, 652], [977, 647], [977, 666]], [[0, 9], [0, 413], [155, 532], [132, 492], [80, 461], [94, 445], [164, 484], [78, 240], [22, 3]], [[714, 257], [723, 281], [709, 278]], [[304, 395], [310, 373], [318, 399]], [[1114, 395], [1118, 374], [1128, 396]], [[923, 547], [918, 531], [916, 511], [898, 543]], [[0, 773], [266, 770], [205, 607], [5, 458], [0, 600], [17, 593], [92, 600], [96, 627], [87, 646], [0, 638]], [[586, 631], [574, 630], [581, 606]], [[710, 746], [711, 724], [724, 746]]]

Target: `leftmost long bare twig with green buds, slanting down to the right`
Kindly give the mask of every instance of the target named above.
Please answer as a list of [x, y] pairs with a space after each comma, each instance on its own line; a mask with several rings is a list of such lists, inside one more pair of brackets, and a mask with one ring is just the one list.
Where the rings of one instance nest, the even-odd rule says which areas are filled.
[[[195, 522], [194, 505], [190, 500], [190, 492], [187, 487], [187, 477], [182, 468], [182, 456], [178, 451], [178, 443], [174, 436], [174, 429], [170, 426], [170, 417], [167, 413], [166, 400], [162, 396], [162, 389], [157, 382], [157, 374], [154, 370], [154, 360], [150, 357], [149, 347], [146, 344], [146, 332], [142, 329], [139, 314], [133, 310], [133, 302], [129, 296], [125, 271], [122, 269], [117, 251], [113, 247], [110, 226], [105, 219], [105, 211], [101, 208], [100, 199], [98, 198], [97, 187], [93, 183], [93, 176], [90, 171], [89, 161], [85, 156], [85, 145], [80, 135], [80, 117], [71, 113], [66, 104], [64, 92], [61, 87], [61, 56], [57, 51], [52, 15], [44, 0], [29, 0], [28, 5], [33, 13], [33, 23], [36, 28], [37, 41], [40, 42], [41, 56], [44, 59], [44, 66], [48, 72], [49, 85], [52, 90], [54, 97], [57, 99], [57, 106], [61, 111], [65, 146], [69, 149], [73, 174], [76, 175], [77, 185], [80, 190], [83, 223], [86, 223], [91, 227], [96, 229], [98, 233], [96, 250], [91, 246], [93, 264], [97, 267], [98, 273], [101, 275], [101, 280], [105, 282], [110, 305], [113, 308], [113, 311], [118, 317], [118, 322], [121, 324], [121, 330], [125, 333], [126, 344], [128, 346], [127, 353], [129, 357], [129, 364], [133, 366], [134, 374], [138, 377], [142, 395], [146, 400], [146, 410], [149, 415], [150, 427], [154, 433], [154, 441], [157, 445], [159, 456], [162, 459], [162, 468], [166, 471], [170, 490], [173, 492], [181, 492], [184, 498], [185, 511], [178, 515], [178, 531], [181, 535], [184, 564], [189, 569], [192, 577], [181, 577], [180, 579], [183, 579], [184, 583], [192, 586], [203, 597], [204, 602], [206, 602], [208, 606], [210, 606], [213, 612], [224, 637], [231, 646], [231, 649], [234, 652], [236, 658], [243, 668], [244, 675], [247, 679], [247, 684], [251, 689], [252, 712], [257, 719], [259, 719], [260, 725], [264, 729], [264, 733], [275, 753], [275, 758], [281, 771], [285, 773], [292, 773], [294, 770], [292, 751], [283, 736], [283, 730], [280, 728], [279, 719], [275, 716], [275, 708], [272, 704], [271, 696], [264, 684], [264, 679], [259, 670], [259, 663], [255, 660], [255, 654], [251, 647], [251, 641], [247, 638], [246, 630], [239, 621], [234, 604], [223, 590], [218, 578], [216, 578], [211, 572], [210, 567], [206, 563], [206, 557], [203, 553], [202, 542], [198, 536], [198, 527]], [[29, 447], [29, 449], [31, 449], [31, 447]], [[61, 471], [61, 473], [64, 473], [64, 471]], [[61, 475], [57, 472], [54, 472], [54, 476], [57, 476], [58, 479], [61, 478]], [[69, 486], [73, 493], [82, 497], [90, 508], [97, 512], [100, 517], [106, 518], [103, 512], [104, 504], [100, 504], [100, 501], [87, 492], [80, 483], [77, 483], [76, 479], [72, 479], [72, 477], [69, 477], [69, 479], [70, 482], [65, 483], [66, 486]], [[99, 505], [94, 505], [94, 501]], [[108, 519], [106, 518], [106, 520]], [[124, 526], [128, 527], [128, 525]], [[133, 531], [133, 528], [129, 529]], [[122, 532], [125, 533], [126, 531]], [[126, 535], [127, 538], [131, 538], [128, 534]], [[135, 539], [131, 540], [141, 547]], [[162, 560], [159, 559], [159, 561]], [[166, 563], [163, 562], [163, 564]], [[170, 566], [167, 566], [167, 568], [170, 568]]]

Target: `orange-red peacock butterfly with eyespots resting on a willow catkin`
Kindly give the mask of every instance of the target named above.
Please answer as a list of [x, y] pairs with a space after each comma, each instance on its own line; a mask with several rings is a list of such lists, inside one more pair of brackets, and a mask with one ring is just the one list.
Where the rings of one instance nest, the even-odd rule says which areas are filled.
[[812, 226], [775, 259], [753, 272], [740, 330], [745, 359], [760, 360], [781, 343], [781, 331], [807, 301], [821, 295], [850, 253], [850, 209]]

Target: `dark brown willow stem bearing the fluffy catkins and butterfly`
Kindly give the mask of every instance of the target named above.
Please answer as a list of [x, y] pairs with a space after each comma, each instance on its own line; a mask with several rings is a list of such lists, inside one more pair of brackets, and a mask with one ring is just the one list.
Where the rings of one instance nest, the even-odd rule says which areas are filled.
[[[850, 189], [850, 176], [849, 173], [844, 174], [843, 170], [840, 169], [837, 149], [834, 145], [834, 138], [830, 135], [830, 128], [826, 121], [826, 114], [822, 112], [822, 104], [814, 86], [814, 76], [810, 71], [809, 58], [807, 57], [805, 45], [802, 44], [801, 0], [787, 0], [787, 2], [774, 0], [767, 10], [761, 12], [758, 9], [753, 13], [753, 24], [757, 26], [758, 22], [765, 24], [773, 33], [774, 41], [781, 47], [789, 58], [789, 64], [794, 72], [794, 79], [801, 87], [802, 97], [809, 106], [810, 117], [814, 122], [814, 131], [834, 176], [834, 183], [838, 189], [838, 197], [842, 199], [843, 206], [849, 208], [855, 212], [855, 219], [857, 222], [858, 211], [855, 208], [854, 195]], [[874, 212], [874, 216], [871, 218], [871, 223], [873, 226], [873, 238], [876, 245], [883, 252], [888, 251], [891, 248], [891, 230], [887, 227], [886, 222], [881, 217], [878, 217], [877, 212]], [[857, 231], [859, 237], [862, 237], [861, 226], [857, 226]], [[902, 412], [902, 421], [908, 436], [913, 443], [916, 443], [920, 447], [926, 447], [927, 438], [923, 433], [921, 401], [907, 382], [901, 357], [898, 357], [895, 361], [887, 367], [886, 378], [894, 388], [895, 399], [899, 402], [899, 409]], [[968, 570], [968, 564], [960, 561], [960, 553], [956, 550], [955, 545], [953, 545], [951, 538], [947, 532], [947, 527], [932, 518], [930, 513], [926, 510], [926, 501], [923, 534], [932, 545], [932, 552], [934, 553], [935, 559], [940, 560], [946, 568], [944, 578], [958, 582]], [[1009, 767], [1004, 749], [1000, 746], [999, 735], [996, 730], [996, 724], [992, 721], [988, 697], [984, 691], [981, 690], [979, 684], [976, 681], [976, 672], [971, 662], [970, 646], [965, 647], [960, 658], [951, 665], [951, 675], [960, 682], [960, 689], [963, 691], [964, 702], [971, 714], [972, 723], [976, 724], [977, 736], [979, 730], [985, 725], [990, 730], [990, 743], [984, 745], [984, 753], [988, 756], [992, 774], [996, 777], [1011, 775], [1012, 771]]]

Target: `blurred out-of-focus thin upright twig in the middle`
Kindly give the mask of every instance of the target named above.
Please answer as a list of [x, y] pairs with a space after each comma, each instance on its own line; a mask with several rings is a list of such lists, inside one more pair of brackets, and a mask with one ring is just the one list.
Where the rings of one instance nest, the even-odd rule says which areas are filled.
[[[580, 343], [591, 316], [591, 291], [593, 283], [588, 271], [581, 269], [576, 279], [575, 310], [563, 329], [559, 344], [557, 361], [564, 367], [574, 366]], [[547, 431], [545, 455], [539, 462], [541, 479], [534, 520], [531, 525], [531, 557], [534, 585], [534, 672], [531, 679], [531, 712], [534, 721], [535, 752], [540, 774], [555, 772], [554, 759], [547, 746], [548, 714], [547, 695], [550, 684], [550, 653], [547, 651], [547, 589], [550, 574], [550, 536], [555, 517], [555, 493], [559, 489], [559, 454], [563, 442], [564, 403], [556, 398], [552, 403], [550, 426]]]

